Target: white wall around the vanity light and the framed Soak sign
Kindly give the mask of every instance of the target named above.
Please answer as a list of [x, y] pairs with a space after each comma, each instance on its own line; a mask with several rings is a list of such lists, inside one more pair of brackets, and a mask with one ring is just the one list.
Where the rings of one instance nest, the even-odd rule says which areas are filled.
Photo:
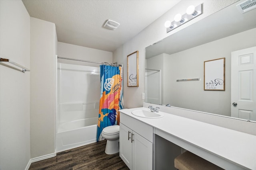
[[[143, 31], [141, 31], [134, 38], [130, 39], [130, 41], [126, 42], [124, 45], [116, 49], [113, 53], [113, 61], [117, 61], [120, 64], [124, 64], [123, 74], [124, 74], [124, 107], [141, 107], [143, 104], [141, 94], [144, 92], [144, 76], [145, 76], [145, 48], [160, 39], [163, 39], [173, 33], [176, 33], [180, 29], [183, 29], [192, 23], [202, 20], [217, 12], [226, 6], [236, 2], [237, 0], [182, 0], [172, 9], [170, 9], [166, 14], [158, 18], [148, 27], [146, 27]], [[180, 27], [166, 33], [166, 28], [164, 27], [164, 22], [166, 20], [170, 20], [174, 18], [177, 13], [184, 14], [186, 12], [186, 8], [190, 5], [198, 5], [203, 3], [203, 14], [189, 21], [188, 23], [181, 25]], [[127, 87], [127, 55], [133, 53], [134, 51], [139, 51], [139, 87]]]

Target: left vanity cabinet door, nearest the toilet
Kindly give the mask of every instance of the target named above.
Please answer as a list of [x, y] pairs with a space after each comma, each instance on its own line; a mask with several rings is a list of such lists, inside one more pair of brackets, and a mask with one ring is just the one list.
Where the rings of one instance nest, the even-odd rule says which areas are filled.
[[120, 123], [119, 156], [132, 169], [132, 130]]

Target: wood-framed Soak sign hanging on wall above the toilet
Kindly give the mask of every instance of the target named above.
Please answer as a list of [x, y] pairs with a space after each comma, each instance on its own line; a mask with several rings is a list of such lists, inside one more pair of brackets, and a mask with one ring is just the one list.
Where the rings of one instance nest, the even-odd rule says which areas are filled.
[[139, 51], [135, 51], [127, 56], [127, 86], [128, 87], [138, 87], [139, 77], [138, 77], [138, 61]]

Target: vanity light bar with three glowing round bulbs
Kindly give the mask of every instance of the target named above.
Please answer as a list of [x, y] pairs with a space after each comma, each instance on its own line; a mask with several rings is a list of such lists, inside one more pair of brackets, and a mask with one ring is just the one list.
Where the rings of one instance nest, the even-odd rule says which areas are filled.
[[189, 20], [192, 20], [193, 18], [196, 18], [197, 16], [202, 14], [202, 4], [199, 4], [198, 6], [190, 5], [187, 10], [186, 14], [176, 14], [174, 17], [174, 21], [166, 21], [164, 23], [164, 26], [166, 27], [166, 33], [172, 31], [172, 29], [177, 28], [178, 26], [186, 23]]

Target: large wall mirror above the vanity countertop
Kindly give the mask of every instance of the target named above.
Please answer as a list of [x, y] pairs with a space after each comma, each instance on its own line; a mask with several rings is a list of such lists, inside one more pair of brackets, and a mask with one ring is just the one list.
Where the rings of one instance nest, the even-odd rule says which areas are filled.
[[[231, 97], [231, 90], [237, 84], [231, 78], [232, 52], [256, 46], [256, 9], [242, 14], [236, 5], [243, 1], [146, 47], [145, 102], [170, 104], [218, 115], [234, 115], [231, 113], [232, 107], [239, 109], [240, 104]], [[225, 58], [225, 90], [206, 91], [204, 61], [220, 58]], [[255, 53], [253, 59], [256, 62]], [[255, 67], [254, 64], [254, 69]], [[238, 76], [238, 73], [232, 74]], [[254, 78], [255, 74], [256, 70]], [[177, 81], [198, 78], [199, 80], [194, 81]], [[254, 88], [255, 82], [256, 80], [252, 85]], [[254, 92], [249, 96], [252, 96], [255, 104], [256, 89], [245, 91]], [[252, 114], [256, 114], [256, 104], [254, 108], [247, 109], [247, 115], [239, 118], [256, 121], [256, 117], [250, 115], [251, 110], [254, 111]]]

